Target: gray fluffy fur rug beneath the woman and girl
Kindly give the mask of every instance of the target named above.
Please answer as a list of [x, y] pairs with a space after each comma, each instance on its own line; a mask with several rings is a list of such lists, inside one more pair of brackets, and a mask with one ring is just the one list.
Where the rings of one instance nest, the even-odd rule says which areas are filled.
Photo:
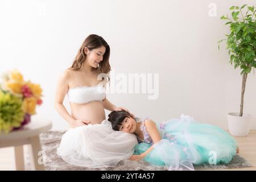
[[[77, 167], [72, 166], [71, 164], [65, 163], [63, 159], [56, 154], [56, 149], [59, 147], [60, 140], [65, 131], [48, 131], [47, 133], [40, 134], [40, 142], [42, 145], [42, 150], [45, 152], [46, 158], [45, 167], [46, 170], [50, 171], [159, 171], [159, 170], [168, 170], [168, 167], [165, 166], [152, 166], [143, 160], [132, 161], [132, 160], [122, 160], [118, 163], [116, 167], [105, 167], [105, 168], [86, 168], [86, 167]], [[31, 170], [30, 160], [28, 155], [28, 149], [24, 148], [25, 154], [25, 169]], [[210, 164], [201, 164], [195, 165], [195, 170], [215, 170], [215, 169], [227, 169], [227, 168], [242, 168], [242, 167], [251, 167], [251, 164], [247, 163], [245, 159], [236, 155], [235, 158], [229, 164], [220, 164], [220, 165], [210, 165]]]

